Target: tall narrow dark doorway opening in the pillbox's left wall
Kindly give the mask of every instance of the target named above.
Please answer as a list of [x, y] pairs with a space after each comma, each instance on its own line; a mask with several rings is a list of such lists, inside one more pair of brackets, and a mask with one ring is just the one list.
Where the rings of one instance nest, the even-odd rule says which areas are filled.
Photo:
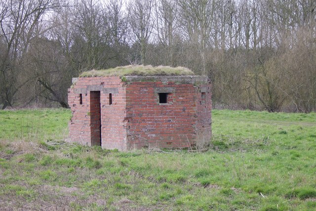
[[101, 146], [101, 127], [100, 91], [90, 91], [91, 146]]

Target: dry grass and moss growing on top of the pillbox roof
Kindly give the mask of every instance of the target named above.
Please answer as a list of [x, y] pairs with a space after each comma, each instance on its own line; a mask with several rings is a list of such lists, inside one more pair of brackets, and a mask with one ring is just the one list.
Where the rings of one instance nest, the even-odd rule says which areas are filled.
[[111, 68], [108, 70], [90, 70], [82, 72], [79, 77], [96, 76], [121, 76], [121, 75], [194, 75], [192, 70], [183, 67], [171, 68], [169, 66], [153, 67], [151, 65], [128, 65], [124, 67]]

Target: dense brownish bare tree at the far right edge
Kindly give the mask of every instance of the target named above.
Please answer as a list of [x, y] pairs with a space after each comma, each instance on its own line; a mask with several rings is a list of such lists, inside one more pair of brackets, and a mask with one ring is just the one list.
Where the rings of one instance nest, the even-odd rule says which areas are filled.
[[[294, 36], [293, 36], [294, 34]], [[280, 53], [274, 58], [275, 74], [282, 81], [279, 90], [292, 111], [316, 111], [316, 40], [313, 28], [301, 27], [283, 35]]]

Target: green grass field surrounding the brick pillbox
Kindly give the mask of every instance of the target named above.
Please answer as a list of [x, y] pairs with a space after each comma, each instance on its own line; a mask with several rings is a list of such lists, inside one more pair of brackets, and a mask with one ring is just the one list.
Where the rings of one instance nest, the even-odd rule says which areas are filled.
[[66, 143], [66, 109], [0, 111], [0, 210], [316, 210], [316, 113], [214, 110], [206, 152]]

